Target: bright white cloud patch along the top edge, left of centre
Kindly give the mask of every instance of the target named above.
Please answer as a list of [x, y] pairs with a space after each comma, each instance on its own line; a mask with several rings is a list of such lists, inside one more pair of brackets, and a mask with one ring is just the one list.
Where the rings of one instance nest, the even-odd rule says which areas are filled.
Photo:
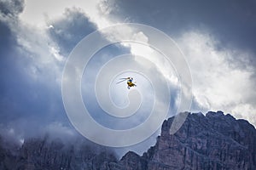
[[111, 8], [102, 0], [26, 0], [26, 6], [20, 19], [34, 26], [46, 26], [46, 21], [61, 17], [65, 8], [82, 8], [99, 28], [113, 23], [104, 17]]

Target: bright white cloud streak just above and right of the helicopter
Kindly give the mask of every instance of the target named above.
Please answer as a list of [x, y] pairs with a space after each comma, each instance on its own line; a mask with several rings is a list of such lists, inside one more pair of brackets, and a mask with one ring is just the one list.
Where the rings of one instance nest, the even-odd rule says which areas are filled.
[[[121, 42], [121, 45], [130, 48], [131, 54], [135, 56], [142, 56], [154, 63], [159, 71], [166, 77], [167, 81], [178, 85], [177, 73], [174, 71], [172, 64], [163, 54], [160, 54], [159, 51], [154, 49], [155, 47], [151, 48], [149, 46], [150, 42], [148, 42], [148, 37], [143, 33], [143, 31], [137, 31], [131, 26], [125, 25], [114, 27], [114, 29], [114, 31], [108, 30], [108, 32], [102, 31], [102, 33], [105, 34], [106, 38], [112, 42], [133, 39], [134, 42]], [[167, 44], [163, 44], [163, 46], [166, 46], [166, 48], [171, 48], [167, 47]], [[140, 62], [139, 59], [135, 59], [137, 62]]]

